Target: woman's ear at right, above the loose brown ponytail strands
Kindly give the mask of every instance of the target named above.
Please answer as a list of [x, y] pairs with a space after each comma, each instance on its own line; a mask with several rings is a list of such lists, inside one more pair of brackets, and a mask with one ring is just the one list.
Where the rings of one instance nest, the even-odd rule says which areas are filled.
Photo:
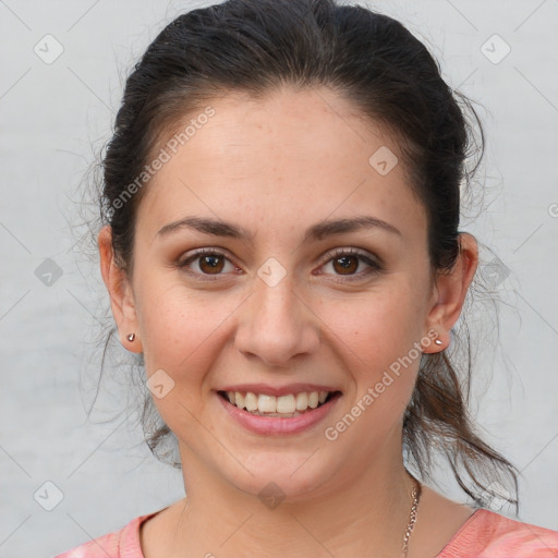
[[450, 271], [439, 274], [433, 293], [433, 304], [426, 318], [428, 337], [438, 337], [440, 344], [429, 343], [424, 353], [442, 351], [449, 344], [449, 331], [458, 320], [465, 295], [478, 266], [478, 246], [472, 234], [462, 232], [458, 239], [459, 255]]

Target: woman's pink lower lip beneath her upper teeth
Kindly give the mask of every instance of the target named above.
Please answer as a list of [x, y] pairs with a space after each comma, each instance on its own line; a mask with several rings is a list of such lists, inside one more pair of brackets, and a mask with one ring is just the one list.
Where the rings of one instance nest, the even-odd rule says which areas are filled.
[[341, 397], [341, 393], [336, 393], [327, 403], [324, 403], [316, 409], [305, 411], [299, 416], [281, 418], [277, 416], [259, 416], [248, 413], [247, 411], [229, 403], [229, 401], [219, 396], [219, 393], [216, 395], [225, 410], [241, 426], [244, 426], [244, 428], [255, 434], [265, 435], [296, 434], [306, 430], [319, 423], [327, 414], [329, 414]]

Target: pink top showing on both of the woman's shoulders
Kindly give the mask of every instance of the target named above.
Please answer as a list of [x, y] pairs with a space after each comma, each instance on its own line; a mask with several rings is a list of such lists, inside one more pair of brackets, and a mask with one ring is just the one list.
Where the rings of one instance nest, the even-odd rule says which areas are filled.
[[[120, 531], [89, 541], [54, 558], [144, 558], [140, 545], [140, 525], [156, 513], [135, 518]], [[480, 508], [436, 556], [473, 557], [556, 558], [558, 531], [522, 523]]]

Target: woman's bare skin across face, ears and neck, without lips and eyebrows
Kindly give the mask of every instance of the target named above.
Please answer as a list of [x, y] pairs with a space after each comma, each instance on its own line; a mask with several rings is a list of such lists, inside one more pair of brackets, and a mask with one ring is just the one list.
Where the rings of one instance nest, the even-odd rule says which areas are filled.
[[[110, 228], [98, 238], [122, 344], [144, 353], [148, 377], [163, 369], [174, 381], [154, 401], [179, 440], [187, 500], [144, 524], [144, 554], [401, 556], [413, 487], [402, 415], [420, 359], [335, 441], [324, 430], [428, 331], [442, 344], [425, 353], [448, 345], [476, 242], [462, 233], [451, 272], [434, 275], [425, 209], [403, 163], [386, 175], [368, 163], [381, 146], [399, 157], [397, 144], [329, 89], [283, 88], [258, 100], [231, 94], [210, 105], [216, 116], [145, 186], [131, 276], [114, 263]], [[304, 242], [317, 221], [363, 215], [399, 233], [376, 227]], [[157, 234], [189, 216], [233, 222], [253, 241], [190, 229]], [[228, 258], [217, 280], [204, 280], [216, 276], [199, 258], [192, 274], [177, 265], [204, 247]], [[350, 258], [343, 275], [327, 254], [344, 247], [379, 258], [381, 269], [365, 275], [372, 267]], [[269, 257], [287, 271], [275, 287], [257, 275]], [[306, 432], [256, 435], [229, 418], [215, 392], [247, 381], [330, 385], [342, 398]], [[275, 509], [258, 498], [270, 482], [286, 495]], [[435, 556], [472, 511], [423, 485], [409, 556]]]

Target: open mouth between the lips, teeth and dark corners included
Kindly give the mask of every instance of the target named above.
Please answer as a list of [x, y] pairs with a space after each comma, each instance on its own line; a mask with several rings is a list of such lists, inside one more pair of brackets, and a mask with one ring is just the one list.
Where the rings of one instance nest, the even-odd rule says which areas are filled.
[[227, 403], [254, 416], [270, 418], [293, 418], [312, 413], [332, 399], [341, 396], [341, 391], [302, 391], [283, 396], [270, 396], [252, 391], [217, 391]]

